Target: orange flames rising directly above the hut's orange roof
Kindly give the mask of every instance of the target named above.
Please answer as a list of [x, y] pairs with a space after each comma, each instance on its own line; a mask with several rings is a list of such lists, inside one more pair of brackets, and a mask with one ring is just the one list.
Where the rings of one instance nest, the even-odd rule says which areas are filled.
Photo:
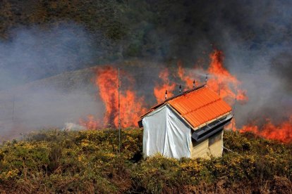
[[[241, 103], [248, 101], [246, 91], [238, 89], [241, 82], [239, 82], [234, 75], [231, 75], [231, 73], [224, 67], [223, 52], [215, 50], [209, 55], [209, 58], [211, 59], [211, 63], [207, 69], [207, 74], [209, 75], [207, 86], [209, 86], [213, 91], [217, 91], [221, 98], [224, 98], [224, 100], [230, 105], [234, 103], [235, 97], [237, 98], [237, 101], [240, 101]], [[201, 71], [201, 69], [200, 67], [195, 67], [193, 71]], [[185, 89], [193, 88], [193, 82], [196, 78], [191, 75], [193, 71], [187, 73], [183, 68], [183, 63], [180, 60], [178, 61], [178, 72], [176, 72], [176, 74], [181, 81], [185, 82]], [[166, 90], [168, 91], [167, 98], [173, 96], [172, 92], [176, 86], [176, 84], [169, 81], [169, 70], [166, 68], [160, 72], [159, 78], [163, 80], [164, 84], [157, 84], [154, 87], [154, 96], [157, 98], [158, 103], [164, 100], [164, 93]], [[198, 82], [199, 80], [196, 79], [195, 84], [201, 84]], [[237, 91], [237, 94], [234, 91]]]

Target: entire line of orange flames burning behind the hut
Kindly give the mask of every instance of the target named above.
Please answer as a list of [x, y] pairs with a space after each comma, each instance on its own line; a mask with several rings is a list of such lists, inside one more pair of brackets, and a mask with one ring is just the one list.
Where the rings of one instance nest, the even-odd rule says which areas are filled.
[[[214, 50], [209, 55], [210, 63], [209, 67], [205, 71], [208, 76], [207, 86], [219, 93], [221, 98], [233, 105], [234, 99], [236, 98], [242, 105], [248, 101], [248, 96], [246, 91], [240, 89], [241, 82], [236, 78], [235, 75], [226, 70], [224, 67], [224, 54], [222, 51]], [[194, 72], [202, 72], [201, 67], [195, 67], [192, 70], [185, 70], [183, 68], [183, 63], [178, 61], [178, 71], [172, 73], [173, 78], [180, 79], [181, 82], [185, 83], [184, 89], [193, 88], [193, 81], [195, 79], [195, 84], [203, 84], [202, 81], [194, 75]], [[105, 114], [103, 122], [101, 120], [95, 119], [92, 115], [88, 116], [87, 121], [80, 120], [80, 124], [87, 127], [87, 129], [98, 129], [99, 127], [107, 126], [111, 124], [113, 127], [118, 127], [118, 77], [117, 70], [114, 67], [99, 67], [97, 68], [97, 76], [95, 79], [95, 84], [99, 88], [99, 96], [105, 105]], [[126, 75], [128, 82], [133, 83], [133, 78]], [[202, 74], [201, 74], [202, 75]], [[205, 78], [205, 77], [204, 77]], [[157, 82], [154, 86], [154, 96], [157, 99], [157, 103], [161, 103], [165, 98], [165, 91], [167, 90], [167, 98], [174, 96], [174, 89], [176, 87], [175, 82], [171, 82], [170, 73], [167, 68], [164, 68], [159, 73], [159, 79], [161, 82]], [[204, 80], [205, 81], [205, 80]], [[130, 85], [127, 84], [127, 85]], [[140, 119], [138, 115], [142, 115], [145, 112], [144, 99], [138, 98], [134, 91], [129, 87], [123, 87], [120, 94], [121, 100], [121, 127], [131, 127], [137, 126], [137, 122]], [[104, 124], [101, 124], [104, 123]], [[233, 129], [236, 130], [236, 122], [233, 119], [232, 124]], [[231, 127], [231, 125], [229, 127]], [[251, 122], [245, 125], [242, 129], [238, 129], [241, 132], [252, 131], [255, 134], [264, 136], [265, 138], [277, 139], [285, 143], [292, 141], [292, 115], [288, 120], [282, 122], [279, 125], [272, 123], [271, 119], [266, 119], [266, 123], [263, 126], [258, 126], [257, 124]]]

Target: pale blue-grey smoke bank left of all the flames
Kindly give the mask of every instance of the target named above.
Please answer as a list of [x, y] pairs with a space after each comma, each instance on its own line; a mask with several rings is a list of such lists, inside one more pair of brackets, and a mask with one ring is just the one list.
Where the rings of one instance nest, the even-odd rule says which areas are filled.
[[90, 82], [94, 74], [74, 71], [102, 55], [83, 27], [18, 28], [11, 34], [0, 42], [0, 140], [43, 127], [62, 128], [87, 114], [102, 117], [97, 110], [103, 105]]

